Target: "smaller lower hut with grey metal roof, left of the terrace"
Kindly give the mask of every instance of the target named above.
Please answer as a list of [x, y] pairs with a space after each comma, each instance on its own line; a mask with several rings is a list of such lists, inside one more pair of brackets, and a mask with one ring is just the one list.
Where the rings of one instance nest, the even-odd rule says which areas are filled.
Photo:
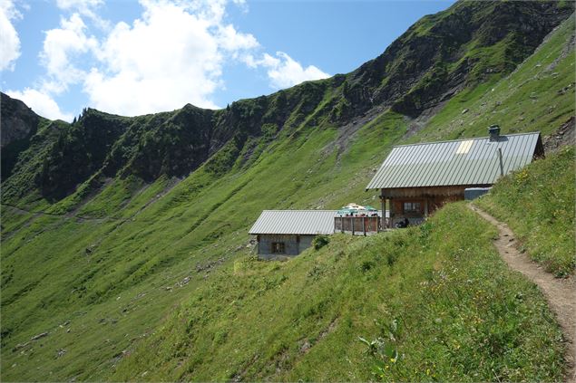
[[316, 235], [334, 233], [337, 210], [264, 210], [249, 231], [256, 235], [259, 258], [300, 254]]

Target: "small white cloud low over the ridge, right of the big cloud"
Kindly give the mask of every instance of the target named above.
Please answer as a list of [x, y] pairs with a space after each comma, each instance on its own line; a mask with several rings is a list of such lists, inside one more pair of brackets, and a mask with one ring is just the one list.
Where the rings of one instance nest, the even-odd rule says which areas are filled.
[[266, 68], [270, 86], [276, 89], [288, 88], [304, 81], [330, 77], [328, 73], [322, 72], [314, 65], [308, 65], [304, 68], [302, 64], [283, 52], [277, 52], [276, 57], [264, 53], [259, 60], [255, 60], [251, 55], [246, 55], [243, 60], [249, 67]]

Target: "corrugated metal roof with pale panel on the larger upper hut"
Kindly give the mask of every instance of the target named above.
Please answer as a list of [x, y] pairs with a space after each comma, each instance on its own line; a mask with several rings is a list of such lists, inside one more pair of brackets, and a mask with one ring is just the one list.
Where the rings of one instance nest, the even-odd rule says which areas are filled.
[[396, 146], [366, 189], [491, 185], [500, 177], [498, 148], [508, 174], [532, 161], [539, 139], [535, 132]]

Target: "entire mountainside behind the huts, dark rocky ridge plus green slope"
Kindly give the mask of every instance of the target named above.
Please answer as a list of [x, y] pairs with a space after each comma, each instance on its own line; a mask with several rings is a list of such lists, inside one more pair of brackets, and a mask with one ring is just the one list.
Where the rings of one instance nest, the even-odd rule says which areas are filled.
[[[572, 9], [506, 5], [456, 4], [415, 24], [381, 56], [386, 60], [226, 110], [185, 106], [133, 119], [85, 110], [72, 125], [45, 121], [2, 184], [3, 380], [110, 377], [176, 303], [218, 286], [214, 272], [229, 270], [248, 250], [247, 229], [261, 209], [372, 200], [364, 187], [394, 143], [484, 135], [490, 118], [468, 105], [497, 100], [510, 110], [524, 101], [519, 89], [537, 89], [538, 101], [522, 104], [530, 124], [513, 126], [505, 112], [493, 117], [504, 132], [552, 132], [574, 112], [566, 101], [574, 89], [573, 20], [513, 68]], [[494, 24], [496, 11], [510, 23], [521, 20], [519, 29]], [[448, 59], [473, 52], [475, 59], [466, 59], [473, 64], [449, 66], [464, 71], [457, 84], [426, 85], [434, 65], [448, 60], [434, 53], [441, 52], [436, 40], [426, 42], [449, 42], [451, 24], [469, 25], [470, 40], [464, 36]], [[493, 30], [500, 32], [490, 40]], [[522, 41], [525, 49], [506, 49]], [[388, 62], [386, 70], [378, 60]], [[493, 67], [502, 72], [486, 71]], [[434, 100], [418, 96], [425, 103], [406, 107], [405, 89], [428, 90]], [[552, 114], [551, 99], [559, 105]], [[471, 111], [462, 115], [463, 106]]]

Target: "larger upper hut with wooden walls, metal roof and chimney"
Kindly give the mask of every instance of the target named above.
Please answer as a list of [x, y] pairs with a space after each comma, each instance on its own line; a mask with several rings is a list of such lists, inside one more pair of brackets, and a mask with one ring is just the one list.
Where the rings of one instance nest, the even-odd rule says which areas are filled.
[[490, 137], [401, 145], [392, 151], [366, 190], [379, 189], [386, 201], [388, 227], [408, 219], [418, 224], [446, 202], [479, 196], [499, 177], [543, 157], [539, 132], [500, 135], [493, 125]]

